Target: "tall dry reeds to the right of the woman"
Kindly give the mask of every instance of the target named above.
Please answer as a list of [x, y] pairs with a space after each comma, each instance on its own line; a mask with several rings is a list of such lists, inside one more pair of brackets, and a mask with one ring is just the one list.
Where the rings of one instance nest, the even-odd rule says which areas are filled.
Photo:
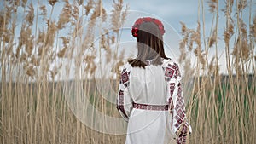
[[[190, 62], [183, 55], [195, 55], [194, 88], [189, 98], [188, 115], [194, 128], [192, 143], [255, 143], [255, 19], [253, 1], [225, 1], [219, 9], [218, 0], [208, 1], [212, 13], [210, 36], [206, 36], [205, 3], [199, 1], [199, 21], [196, 30], [182, 23], [183, 40], [180, 43], [184, 66]], [[249, 7], [249, 8], [247, 8]], [[249, 12], [249, 28], [242, 15]], [[233, 12], [232, 10], [236, 10]], [[224, 33], [219, 33], [220, 13], [224, 14]], [[234, 14], [236, 15], [234, 17]], [[201, 31], [203, 31], [201, 33]], [[201, 41], [203, 40], [203, 41]], [[221, 48], [219, 43], [224, 43]], [[212, 60], [209, 49], [215, 49]], [[219, 71], [218, 49], [225, 51], [228, 75]], [[209, 61], [209, 63], [208, 63]], [[190, 74], [190, 73], [189, 73]]]

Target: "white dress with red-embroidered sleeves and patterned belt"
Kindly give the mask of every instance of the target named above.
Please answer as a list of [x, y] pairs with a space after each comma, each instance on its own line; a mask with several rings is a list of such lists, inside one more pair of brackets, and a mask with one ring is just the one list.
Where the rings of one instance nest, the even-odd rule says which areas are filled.
[[150, 65], [148, 60], [145, 69], [125, 64], [117, 108], [128, 122], [126, 144], [184, 143], [191, 127], [180, 80], [173, 60], [163, 59], [161, 66]]

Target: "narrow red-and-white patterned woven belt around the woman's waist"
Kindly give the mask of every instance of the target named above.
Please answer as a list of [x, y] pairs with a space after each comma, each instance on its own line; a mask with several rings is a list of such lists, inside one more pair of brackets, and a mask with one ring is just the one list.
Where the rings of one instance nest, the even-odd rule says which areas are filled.
[[154, 111], [168, 111], [168, 105], [148, 105], [141, 103], [133, 103], [133, 108]]

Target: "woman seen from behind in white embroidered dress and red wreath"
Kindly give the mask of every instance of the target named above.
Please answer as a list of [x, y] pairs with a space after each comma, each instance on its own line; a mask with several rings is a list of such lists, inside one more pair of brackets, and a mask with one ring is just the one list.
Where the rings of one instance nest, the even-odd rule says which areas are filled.
[[131, 32], [137, 38], [137, 58], [128, 60], [121, 72], [117, 99], [117, 108], [128, 122], [125, 143], [185, 143], [191, 127], [179, 68], [165, 55], [164, 26], [160, 20], [140, 18]]

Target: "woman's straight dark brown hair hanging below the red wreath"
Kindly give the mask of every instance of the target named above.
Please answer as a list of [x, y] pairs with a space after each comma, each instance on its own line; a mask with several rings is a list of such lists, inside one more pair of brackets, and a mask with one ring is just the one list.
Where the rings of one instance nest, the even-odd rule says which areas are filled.
[[163, 36], [154, 22], [143, 22], [137, 34], [137, 57], [128, 60], [132, 67], [147, 66], [146, 60], [153, 60], [153, 65], [161, 65], [166, 57]]

